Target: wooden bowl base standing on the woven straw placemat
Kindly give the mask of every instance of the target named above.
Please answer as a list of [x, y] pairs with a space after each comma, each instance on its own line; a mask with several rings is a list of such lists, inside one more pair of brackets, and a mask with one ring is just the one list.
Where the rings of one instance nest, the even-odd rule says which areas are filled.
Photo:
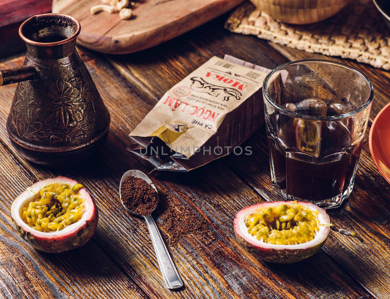
[[339, 12], [349, 0], [251, 0], [257, 9], [290, 24], [310, 24]]

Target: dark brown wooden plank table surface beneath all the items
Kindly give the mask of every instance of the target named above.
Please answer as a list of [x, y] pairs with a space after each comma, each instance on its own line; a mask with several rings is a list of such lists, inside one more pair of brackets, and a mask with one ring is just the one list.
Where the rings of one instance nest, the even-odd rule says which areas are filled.
[[[151, 179], [168, 205], [209, 223], [207, 242], [186, 235], [169, 246], [184, 281], [165, 287], [143, 219], [129, 216], [119, 201], [119, 181], [129, 169], [151, 166], [127, 152], [128, 133], [168, 88], [211, 56], [234, 55], [273, 69], [289, 60], [328, 58], [278, 46], [223, 29], [227, 15], [150, 50], [124, 56], [80, 49], [111, 114], [101, 153], [80, 166], [53, 169], [30, 164], [12, 148], [5, 129], [16, 85], [0, 88], [0, 294], [5, 298], [390, 298], [390, 186], [374, 166], [368, 133], [355, 188], [342, 207], [329, 211], [333, 223], [366, 241], [334, 232], [314, 256], [295, 264], [269, 264], [250, 255], [234, 236], [233, 219], [247, 205], [275, 200], [268, 146], [262, 127], [246, 142], [252, 156], [230, 155], [190, 173], [153, 172]], [[0, 63], [23, 64], [24, 55]], [[329, 58], [328, 58], [329, 59]], [[375, 97], [369, 127], [389, 101], [390, 73], [332, 57], [366, 74]], [[11, 225], [14, 198], [37, 180], [64, 175], [95, 198], [99, 226], [81, 248], [60, 254], [36, 251]], [[167, 223], [157, 217], [167, 239]]]

